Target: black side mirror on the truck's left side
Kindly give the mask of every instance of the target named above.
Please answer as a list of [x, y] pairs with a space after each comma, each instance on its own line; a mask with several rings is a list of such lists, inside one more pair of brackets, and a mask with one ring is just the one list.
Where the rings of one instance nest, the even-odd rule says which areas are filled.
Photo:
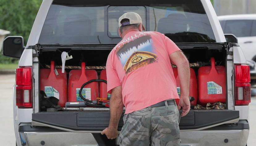
[[24, 50], [24, 40], [22, 36], [7, 36], [3, 41], [3, 55], [20, 58]]

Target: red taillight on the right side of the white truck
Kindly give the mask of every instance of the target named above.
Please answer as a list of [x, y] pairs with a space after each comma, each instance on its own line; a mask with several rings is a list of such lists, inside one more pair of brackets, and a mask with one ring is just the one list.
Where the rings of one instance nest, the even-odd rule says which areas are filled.
[[251, 102], [249, 65], [235, 65], [235, 106], [247, 106]]

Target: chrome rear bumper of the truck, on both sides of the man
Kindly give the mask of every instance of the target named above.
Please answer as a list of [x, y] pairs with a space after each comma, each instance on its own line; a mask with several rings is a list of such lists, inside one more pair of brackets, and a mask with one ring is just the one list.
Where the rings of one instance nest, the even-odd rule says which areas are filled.
[[[19, 135], [19, 146], [98, 146], [91, 133], [19, 132]], [[181, 131], [181, 146], [245, 146], [248, 136], [249, 129]]]

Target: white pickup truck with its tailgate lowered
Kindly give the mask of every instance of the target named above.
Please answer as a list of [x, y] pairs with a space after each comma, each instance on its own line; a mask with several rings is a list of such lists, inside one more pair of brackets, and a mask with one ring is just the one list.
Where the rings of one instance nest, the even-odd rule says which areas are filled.
[[[4, 55], [20, 58], [13, 86], [16, 144], [117, 145], [116, 140], [100, 134], [109, 124], [108, 108], [41, 111], [39, 70], [49, 68], [50, 60], [55, 61], [56, 68], [61, 66], [61, 52], [65, 51], [73, 56], [66, 66], [80, 66], [82, 54], [86, 65], [100, 73], [109, 52], [121, 40], [118, 18], [128, 11], [142, 17], [146, 31], [159, 31], [172, 39], [190, 63], [208, 62], [214, 57], [217, 65], [226, 68], [226, 108], [191, 109], [179, 123], [181, 145], [246, 146], [249, 67], [239, 45], [226, 42], [210, 0], [44, 0], [26, 47], [21, 36], [8, 36], [3, 46]], [[230, 36], [226, 35], [227, 39]], [[194, 70], [197, 74], [198, 68]], [[121, 117], [119, 131], [122, 126]]]

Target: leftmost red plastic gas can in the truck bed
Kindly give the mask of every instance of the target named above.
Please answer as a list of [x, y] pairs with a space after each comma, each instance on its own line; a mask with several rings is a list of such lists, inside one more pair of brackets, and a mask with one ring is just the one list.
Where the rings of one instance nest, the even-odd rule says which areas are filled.
[[51, 61], [50, 69], [40, 69], [40, 90], [45, 91], [47, 97], [58, 98], [58, 105], [64, 107], [67, 102], [67, 73], [61, 73], [61, 69], [57, 72], [58, 75], [54, 72], [54, 61]]

